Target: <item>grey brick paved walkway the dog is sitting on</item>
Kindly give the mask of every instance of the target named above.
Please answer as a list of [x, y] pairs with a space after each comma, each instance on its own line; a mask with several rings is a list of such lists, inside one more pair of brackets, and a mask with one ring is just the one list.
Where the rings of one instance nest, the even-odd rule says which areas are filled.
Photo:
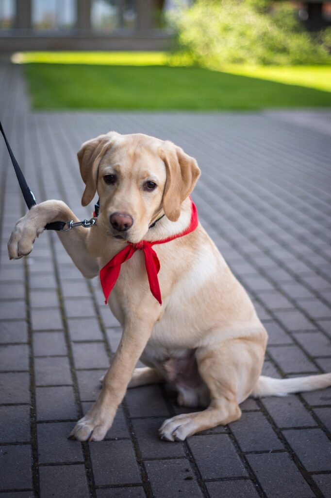
[[[76, 151], [101, 132], [175, 141], [200, 164], [200, 219], [269, 332], [264, 373], [331, 371], [327, 133], [272, 113], [32, 113], [20, 75], [0, 68], [1, 120], [39, 201], [63, 199], [89, 215]], [[185, 443], [157, 437], [182, 411], [164, 387], [131, 389], [105, 441], [68, 441], [120, 330], [97, 279], [83, 279], [56, 234], [9, 261], [25, 207], [2, 140], [0, 167], [0, 498], [331, 496], [331, 388], [249, 399], [239, 422]]]

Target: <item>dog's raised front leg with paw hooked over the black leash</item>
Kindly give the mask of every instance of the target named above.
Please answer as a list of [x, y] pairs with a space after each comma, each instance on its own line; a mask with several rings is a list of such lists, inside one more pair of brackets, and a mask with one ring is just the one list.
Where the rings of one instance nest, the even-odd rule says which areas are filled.
[[[34, 241], [43, 233], [47, 223], [54, 221], [79, 221], [72, 210], [62, 201], [46, 201], [33, 206], [20, 218], [8, 242], [10, 259], [26, 256], [33, 249]], [[93, 228], [91, 228], [93, 230]], [[89, 230], [76, 227], [70, 232], [57, 232], [64, 248], [86, 278], [98, 273], [96, 258], [86, 248]]]

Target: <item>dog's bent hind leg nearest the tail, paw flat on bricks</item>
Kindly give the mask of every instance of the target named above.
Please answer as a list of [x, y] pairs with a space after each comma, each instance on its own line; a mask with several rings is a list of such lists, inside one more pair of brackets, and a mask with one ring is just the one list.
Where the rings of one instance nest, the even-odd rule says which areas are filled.
[[217, 348], [197, 349], [198, 370], [209, 389], [210, 405], [203, 411], [165, 420], [160, 437], [183, 441], [196, 432], [238, 420], [242, 413], [239, 403], [248, 397], [260, 374], [265, 342], [262, 333], [229, 340]]

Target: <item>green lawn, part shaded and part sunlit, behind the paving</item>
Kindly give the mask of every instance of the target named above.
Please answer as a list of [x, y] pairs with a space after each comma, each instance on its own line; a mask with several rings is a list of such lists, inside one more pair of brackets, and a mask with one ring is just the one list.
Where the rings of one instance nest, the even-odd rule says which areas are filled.
[[331, 107], [331, 66], [231, 66], [221, 72], [173, 66], [159, 52], [27, 53], [22, 58], [35, 109]]

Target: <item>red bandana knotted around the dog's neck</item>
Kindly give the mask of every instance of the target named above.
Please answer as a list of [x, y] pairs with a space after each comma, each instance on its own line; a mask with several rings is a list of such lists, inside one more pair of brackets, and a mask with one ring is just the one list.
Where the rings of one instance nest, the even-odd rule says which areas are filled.
[[162, 241], [140, 241], [137, 244], [132, 244], [131, 242], [129, 242], [129, 244], [124, 249], [115, 254], [115, 256], [111, 258], [111, 260], [105, 266], [103, 266], [103, 268], [101, 268], [100, 281], [104, 297], [106, 298], [105, 304], [107, 304], [109, 294], [116, 283], [121, 269], [121, 264], [130, 259], [130, 257], [132, 257], [138, 249], [144, 251], [146, 271], [151, 292], [155, 299], [159, 301], [160, 304], [162, 304], [161, 290], [158, 279], [158, 273], [160, 271], [160, 261], [157, 253], [154, 249], [152, 249], [152, 246], [154, 246], [154, 244], [165, 244], [166, 242], [173, 241], [174, 239], [183, 237], [184, 235], [187, 235], [196, 229], [196, 227], [198, 226], [198, 213], [195, 204], [193, 203], [193, 201], [191, 202], [191, 223], [186, 228], [186, 230], [184, 230], [184, 232], [182, 232], [181, 234], [172, 235], [171, 237], [168, 237], [167, 239], [164, 239]]

